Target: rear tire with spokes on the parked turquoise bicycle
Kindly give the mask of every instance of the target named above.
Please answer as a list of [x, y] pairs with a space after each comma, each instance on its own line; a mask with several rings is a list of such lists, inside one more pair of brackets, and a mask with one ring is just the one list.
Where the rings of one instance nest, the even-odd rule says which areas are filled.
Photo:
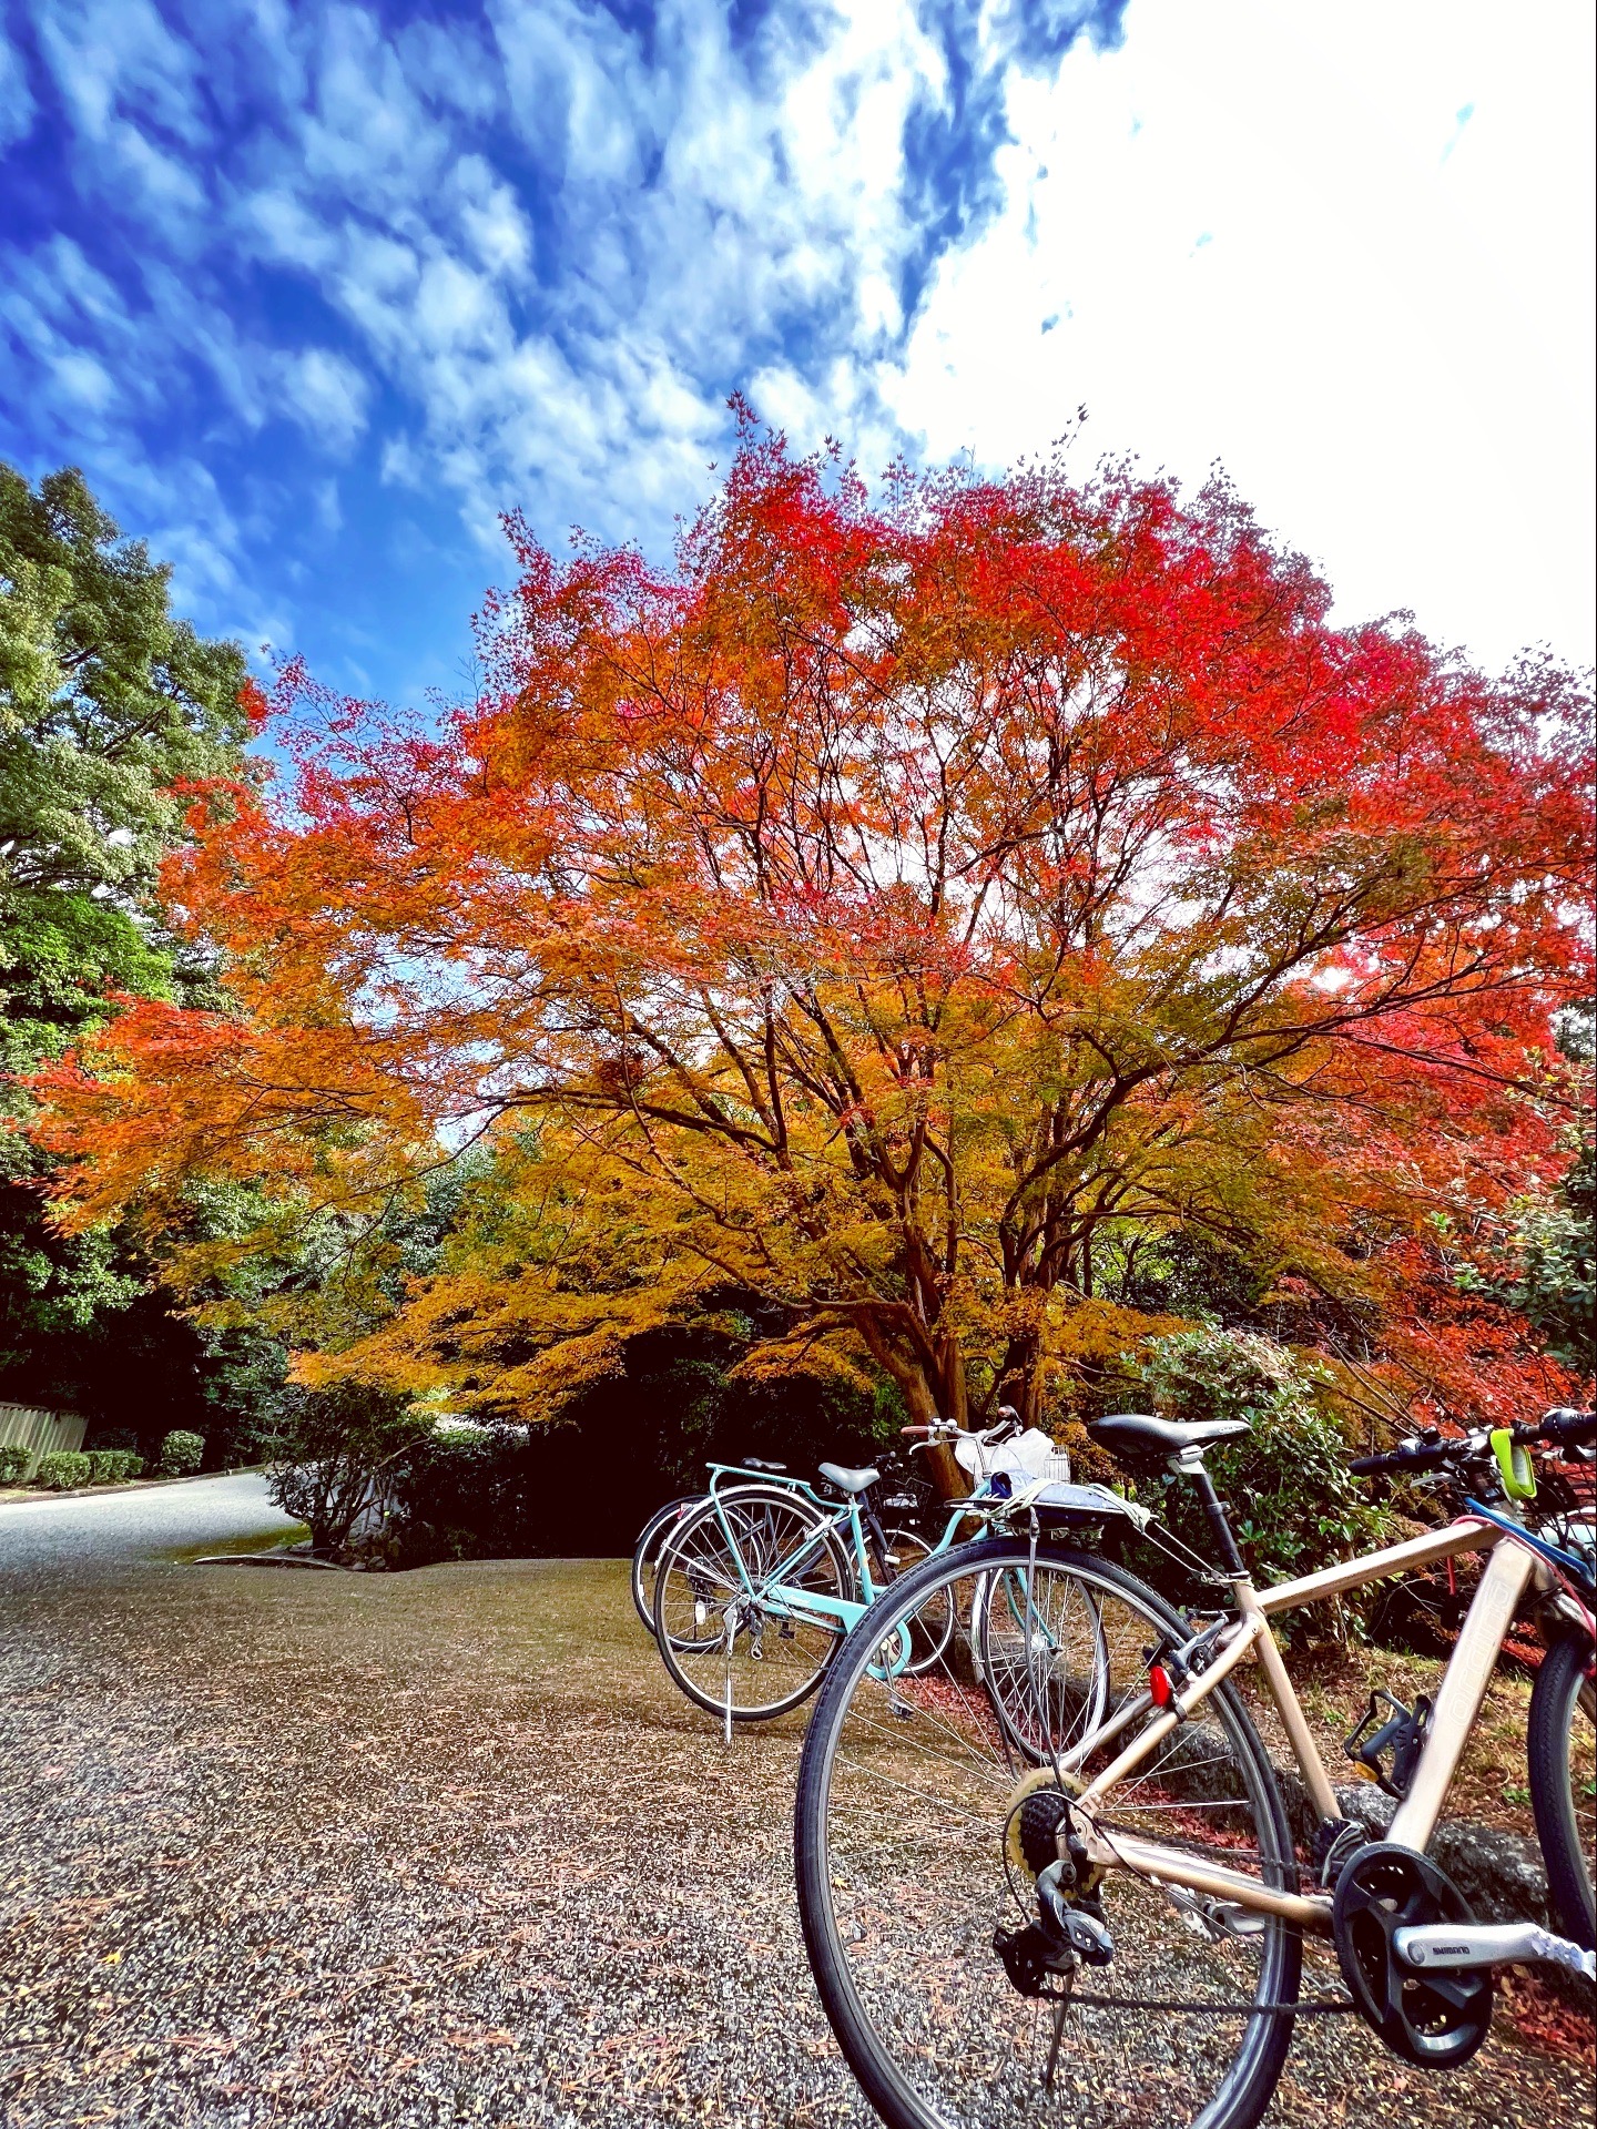
[[[858, 1590], [854, 1563], [837, 1531], [826, 1518], [816, 1516], [811, 1503], [792, 1488], [739, 1486], [737, 1492], [722, 1495], [720, 1503], [703, 1501], [696, 1514], [684, 1518], [660, 1554], [654, 1580], [654, 1639], [671, 1682], [705, 1714], [730, 1722], [771, 1722], [803, 1705], [820, 1686], [826, 1665], [843, 1641], [841, 1620], [835, 1631], [816, 1622], [794, 1624], [781, 1607], [760, 1605], [762, 1563], [741, 1558], [743, 1546], [739, 1546], [739, 1561], [728, 1565], [730, 1548], [722, 1518], [747, 1520], [760, 1509], [769, 1512], [767, 1520], [786, 1516], [794, 1526], [809, 1520], [809, 1535], [818, 1552], [807, 1573], [816, 1575], [824, 1595], [854, 1599]], [[796, 1537], [788, 1539], [788, 1544], [794, 1541]], [[743, 1544], [747, 1544], [747, 1533]], [[784, 1554], [781, 1541], [771, 1550], [784, 1558], [792, 1556]], [[694, 1569], [701, 1578], [698, 1586], [694, 1586]], [[743, 1575], [756, 1588], [752, 1599], [743, 1595]], [[715, 1618], [722, 1620], [722, 1627], [730, 1620], [730, 1637], [726, 1633], [705, 1635], [707, 1624]], [[767, 1631], [775, 1658], [769, 1669]], [[737, 1654], [739, 1641], [747, 1644], [741, 1658]], [[726, 1669], [711, 1680], [715, 1654], [722, 1654]], [[690, 1671], [690, 1663], [698, 1671]], [[732, 1682], [735, 1669], [737, 1682]], [[756, 1690], [764, 1688], [764, 1678], [777, 1673], [784, 1676], [786, 1684], [756, 1697]], [[745, 1684], [752, 1690], [745, 1693]]]

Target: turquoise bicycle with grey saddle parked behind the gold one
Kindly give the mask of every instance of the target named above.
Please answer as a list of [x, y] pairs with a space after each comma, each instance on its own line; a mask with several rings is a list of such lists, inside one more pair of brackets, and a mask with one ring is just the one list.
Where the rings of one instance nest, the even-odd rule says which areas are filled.
[[[999, 1482], [1007, 1486], [1007, 1473], [988, 1471], [986, 1460], [1026, 1439], [1011, 1412], [1001, 1409], [999, 1424], [977, 1435], [941, 1422], [903, 1433], [956, 1441], [979, 1469], [977, 1492], [952, 1505], [935, 1544], [884, 1529], [875, 1467], [830, 1463], [820, 1478], [841, 1497], [837, 1505], [803, 1480], [750, 1486], [745, 1471], [711, 1465], [707, 1499], [671, 1535], [656, 1573], [656, 1641], [675, 1684], [722, 1718], [728, 1739], [735, 1722], [771, 1720], [809, 1699], [847, 1629], [905, 1571], [907, 1554], [939, 1556], [967, 1518], [1005, 1512]], [[1037, 1441], [1052, 1454], [1046, 1435]], [[894, 1665], [928, 1669], [952, 1631], [950, 1618], [926, 1610], [905, 1627]]]

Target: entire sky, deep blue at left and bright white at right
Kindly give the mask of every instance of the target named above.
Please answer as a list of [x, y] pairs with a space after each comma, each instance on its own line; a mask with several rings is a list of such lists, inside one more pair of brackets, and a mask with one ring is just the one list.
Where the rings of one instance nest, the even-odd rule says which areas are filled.
[[662, 549], [730, 390], [1220, 460], [1497, 664], [1593, 645], [1591, 9], [11, 0], [0, 453], [181, 605], [458, 686], [496, 513]]

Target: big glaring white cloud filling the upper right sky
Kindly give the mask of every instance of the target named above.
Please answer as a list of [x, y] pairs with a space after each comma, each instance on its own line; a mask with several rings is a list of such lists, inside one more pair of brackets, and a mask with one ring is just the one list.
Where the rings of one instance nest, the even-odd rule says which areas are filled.
[[1222, 460], [1339, 615], [1591, 658], [1591, 26], [1133, 0], [1120, 51], [1011, 77], [1005, 211], [884, 398], [990, 464], [1086, 402], [1094, 451]]

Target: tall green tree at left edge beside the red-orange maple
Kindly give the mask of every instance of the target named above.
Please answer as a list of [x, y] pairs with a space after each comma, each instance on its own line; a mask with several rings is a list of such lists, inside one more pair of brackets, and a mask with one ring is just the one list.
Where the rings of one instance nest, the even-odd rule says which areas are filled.
[[[19, 1084], [98, 1026], [113, 999], [202, 1003], [155, 920], [179, 786], [245, 771], [236, 643], [170, 611], [170, 571], [117, 526], [75, 468], [38, 488], [0, 464], [0, 1116]], [[262, 1356], [172, 1318], [132, 1237], [60, 1235], [49, 1169], [0, 1133], [0, 1388], [132, 1418], [198, 1418]], [[281, 1371], [281, 1356], [279, 1356]], [[130, 1405], [130, 1394], [138, 1403]], [[147, 1405], [147, 1416], [138, 1409]]]

